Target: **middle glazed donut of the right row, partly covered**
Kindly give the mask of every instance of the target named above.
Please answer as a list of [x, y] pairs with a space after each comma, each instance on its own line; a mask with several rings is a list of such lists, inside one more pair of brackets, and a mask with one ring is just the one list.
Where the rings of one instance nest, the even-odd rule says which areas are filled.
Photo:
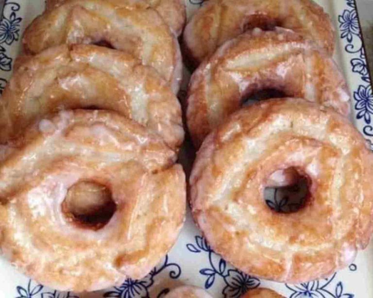
[[186, 114], [195, 145], [245, 99], [266, 89], [349, 113], [347, 84], [331, 58], [290, 30], [254, 29], [225, 43], [194, 72]]

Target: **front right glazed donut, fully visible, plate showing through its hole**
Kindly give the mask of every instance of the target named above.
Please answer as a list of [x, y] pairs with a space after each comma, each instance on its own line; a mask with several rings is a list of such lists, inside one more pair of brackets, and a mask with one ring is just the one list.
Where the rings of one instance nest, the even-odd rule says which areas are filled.
[[[267, 206], [267, 178], [297, 169], [298, 211]], [[346, 117], [303, 99], [262, 101], [211, 132], [190, 177], [195, 222], [244, 273], [298, 283], [349, 265], [373, 232], [373, 155]]]

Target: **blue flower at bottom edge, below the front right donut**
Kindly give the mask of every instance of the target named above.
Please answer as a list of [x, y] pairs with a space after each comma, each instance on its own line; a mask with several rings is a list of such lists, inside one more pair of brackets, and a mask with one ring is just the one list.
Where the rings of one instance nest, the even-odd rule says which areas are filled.
[[229, 298], [239, 298], [249, 289], [254, 289], [260, 284], [257, 278], [232, 269], [228, 270], [224, 281], [227, 285], [223, 289], [223, 295]]

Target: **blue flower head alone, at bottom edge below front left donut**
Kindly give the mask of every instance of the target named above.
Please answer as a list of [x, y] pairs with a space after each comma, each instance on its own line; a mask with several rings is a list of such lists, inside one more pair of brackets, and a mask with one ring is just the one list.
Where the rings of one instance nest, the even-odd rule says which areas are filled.
[[148, 275], [142, 280], [126, 279], [119, 287], [114, 287], [114, 291], [107, 292], [103, 297], [116, 298], [149, 298], [148, 288], [153, 285], [153, 277]]

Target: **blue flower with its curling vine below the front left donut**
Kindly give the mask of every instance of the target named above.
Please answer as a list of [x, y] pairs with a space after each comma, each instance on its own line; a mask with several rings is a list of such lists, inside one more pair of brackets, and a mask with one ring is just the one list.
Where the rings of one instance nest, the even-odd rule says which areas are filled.
[[[114, 287], [113, 290], [106, 292], [103, 297], [115, 297], [115, 298], [149, 298], [149, 288], [154, 283], [154, 277], [161, 273], [164, 269], [172, 267], [173, 270], [169, 272], [171, 279], [178, 279], [181, 275], [181, 268], [176, 263], [169, 263], [169, 257], [166, 256], [165, 261], [162, 265], [156, 266], [153, 270], [142, 280], [125, 280], [119, 287]], [[167, 292], [168, 289], [163, 289], [159, 293], [158, 297]]]

